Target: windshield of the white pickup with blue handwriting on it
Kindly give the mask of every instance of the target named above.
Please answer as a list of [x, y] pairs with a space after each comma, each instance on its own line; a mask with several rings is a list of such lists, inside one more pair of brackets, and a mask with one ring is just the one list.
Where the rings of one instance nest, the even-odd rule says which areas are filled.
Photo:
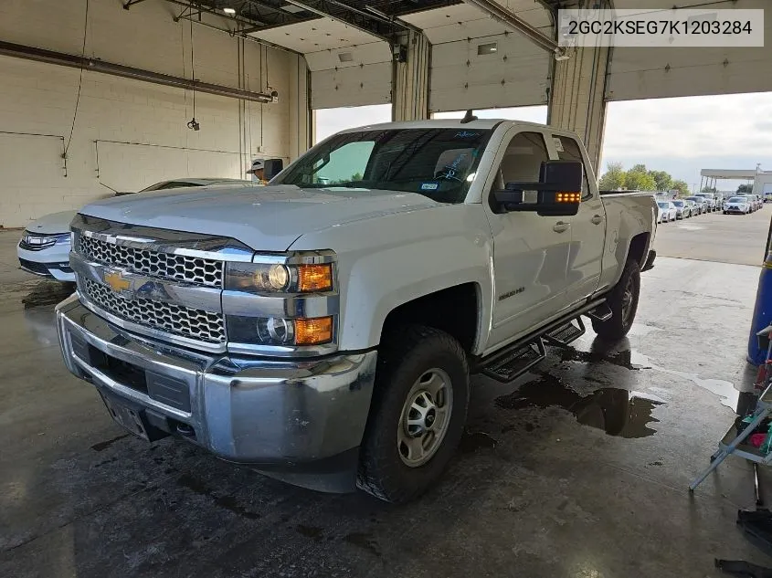
[[460, 203], [490, 136], [479, 129], [346, 132], [313, 147], [270, 184], [403, 191]]

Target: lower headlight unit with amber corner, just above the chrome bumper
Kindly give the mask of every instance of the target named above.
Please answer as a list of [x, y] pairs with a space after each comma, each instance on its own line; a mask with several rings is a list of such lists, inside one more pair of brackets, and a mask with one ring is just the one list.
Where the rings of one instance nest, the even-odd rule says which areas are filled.
[[282, 317], [227, 316], [232, 342], [258, 345], [321, 345], [333, 341], [333, 316], [287, 319]]

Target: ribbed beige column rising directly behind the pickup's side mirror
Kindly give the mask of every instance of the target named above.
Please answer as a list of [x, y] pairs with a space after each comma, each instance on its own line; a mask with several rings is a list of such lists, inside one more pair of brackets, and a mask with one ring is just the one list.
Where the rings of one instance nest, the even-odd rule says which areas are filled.
[[569, 58], [555, 61], [553, 68], [547, 122], [582, 137], [599, 176], [609, 50], [578, 47], [567, 49], [566, 54]]

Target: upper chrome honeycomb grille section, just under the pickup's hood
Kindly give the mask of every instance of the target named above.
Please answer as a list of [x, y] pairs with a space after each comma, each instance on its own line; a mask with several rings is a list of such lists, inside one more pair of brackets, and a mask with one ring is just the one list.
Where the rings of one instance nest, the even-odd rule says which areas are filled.
[[93, 261], [129, 268], [151, 277], [171, 278], [217, 289], [223, 286], [224, 263], [217, 259], [125, 247], [82, 234], [79, 235], [78, 251]]

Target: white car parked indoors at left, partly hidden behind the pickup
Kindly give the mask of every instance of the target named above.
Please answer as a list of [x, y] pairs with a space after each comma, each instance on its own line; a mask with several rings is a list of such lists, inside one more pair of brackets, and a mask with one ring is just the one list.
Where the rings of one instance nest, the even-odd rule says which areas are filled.
[[[251, 181], [238, 179], [175, 179], [152, 184], [140, 193], [168, 191], [183, 187], [199, 187], [215, 184], [251, 185]], [[116, 196], [133, 193], [116, 193]], [[74, 282], [75, 274], [69, 267], [69, 224], [78, 211], [62, 211], [41, 216], [33, 221], [22, 234], [16, 247], [19, 267], [40, 277]]]

